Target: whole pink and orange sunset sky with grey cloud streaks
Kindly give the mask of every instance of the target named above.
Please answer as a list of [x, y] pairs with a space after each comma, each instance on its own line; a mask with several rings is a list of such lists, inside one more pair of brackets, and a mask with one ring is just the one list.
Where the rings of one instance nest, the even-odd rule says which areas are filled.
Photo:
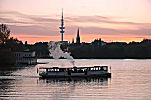
[[0, 0], [0, 23], [23, 42], [60, 41], [62, 8], [65, 40], [78, 27], [82, 42], [151, 38], [151, 0]]

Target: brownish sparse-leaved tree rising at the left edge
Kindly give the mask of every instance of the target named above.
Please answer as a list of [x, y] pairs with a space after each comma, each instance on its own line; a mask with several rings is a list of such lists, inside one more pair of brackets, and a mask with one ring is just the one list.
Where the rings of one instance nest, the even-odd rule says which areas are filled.
[[5, 24], [0, 25], [0, 44], [5, 44], [10, 36], [10, 30]]

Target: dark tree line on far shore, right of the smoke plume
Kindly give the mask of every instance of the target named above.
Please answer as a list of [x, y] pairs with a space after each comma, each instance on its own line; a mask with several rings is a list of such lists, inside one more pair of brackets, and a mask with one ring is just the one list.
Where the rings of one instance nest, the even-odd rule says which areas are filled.
[[128, 44], [122, 42], [95, 44], [72, 45], [69, 51], [74, 58], [151, 59], [151, 40], [148, 39]]

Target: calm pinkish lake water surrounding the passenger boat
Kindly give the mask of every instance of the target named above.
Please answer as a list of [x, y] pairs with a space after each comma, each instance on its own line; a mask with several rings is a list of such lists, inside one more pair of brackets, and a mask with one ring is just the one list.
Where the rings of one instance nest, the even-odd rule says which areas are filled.
[[75, 60], [77, 66], [110, 65], [111, 79], [42, 80], [36, 69], [70, 66], [69, 61], [50, 62], [0, 71], [0, 99], [15, 100], [151, 100], [151, 60]]

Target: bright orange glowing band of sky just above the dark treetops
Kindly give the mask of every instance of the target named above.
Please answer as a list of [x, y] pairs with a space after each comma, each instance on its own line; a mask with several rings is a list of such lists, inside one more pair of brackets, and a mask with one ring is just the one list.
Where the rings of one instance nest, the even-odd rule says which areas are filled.
[[[14, 38], [17, 38], [19, 40], [21, 40], [22, 42], [27, 41], [29, 44], [34, 44], [36, 42], [49, 42], [49, 41], [60, 41], [60, 36], [33, 36], [33, 35], [11, 35]], [[91, 38], [90, 38], [91, 37]], [[65, 41], [69, 41], [70, 43], [72, 42], [74, 38], [74, 42], [76, 42], [75, 40], [75, 36], [73, 35], [66, 35], [65, 37]], [[111, 36], [111, 35], [81, 35], [81, 41], [85, 42], [85, 43], [90, 43], [92, 41], [94, 41], [95, 39], [102, 39], [102, 41], [105, 42], [140, 42], [143, 39], [150, 39], [151, 37], [147, 37], [147, 36], [139, 36], [136, 37], [135, 35], [119, 35], [119, 36]], [[115, 40], [112, 40], [112, 38], [114, 38]]]

